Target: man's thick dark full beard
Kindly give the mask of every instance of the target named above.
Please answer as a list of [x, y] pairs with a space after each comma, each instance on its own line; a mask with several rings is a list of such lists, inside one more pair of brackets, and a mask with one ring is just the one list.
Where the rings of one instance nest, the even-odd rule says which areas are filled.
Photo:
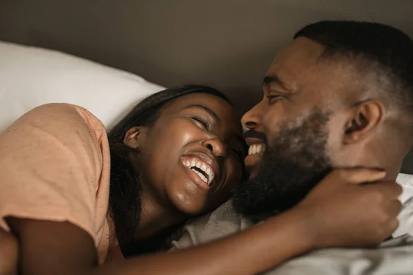
[[235, 187], [235, 210], [259, 222], [301, 201], [332, 168], [326, 153], [329, 119], [330, 113], [313, 109], [305, 118], [283, 121], [257, 175]]

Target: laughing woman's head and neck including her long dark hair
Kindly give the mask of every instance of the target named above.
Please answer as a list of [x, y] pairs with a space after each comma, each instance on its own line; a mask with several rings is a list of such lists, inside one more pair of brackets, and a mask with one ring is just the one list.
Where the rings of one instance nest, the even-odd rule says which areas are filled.
[[223, 203], [242, 179], [246, 154], [229, 100], [194, 85], [140, 102], [110, 131], [109, 147], [109, 206], [124, 255], [157, 250], [171, 226]]

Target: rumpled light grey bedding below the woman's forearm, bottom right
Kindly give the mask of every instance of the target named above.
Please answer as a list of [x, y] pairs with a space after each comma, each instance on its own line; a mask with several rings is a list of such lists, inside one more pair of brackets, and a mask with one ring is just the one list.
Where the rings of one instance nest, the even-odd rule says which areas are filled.
[[374, 249], [324, 249], [292, 259], [268, 275], [412, 275], [413, 237], [406, 234]]

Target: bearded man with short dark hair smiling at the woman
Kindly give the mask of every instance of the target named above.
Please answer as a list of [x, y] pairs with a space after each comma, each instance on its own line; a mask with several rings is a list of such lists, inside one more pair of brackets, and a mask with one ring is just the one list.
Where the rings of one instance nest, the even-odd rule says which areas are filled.
[[[413, 142], [413, 41], [378, 23], [308, 25], [276, 56], [263, 94], [242, 118], [250, 179], [237, 186], [232, 201], [187, 225], [176, 248], [292, 208], [333, 168], [383, 168], [395, 179]], [[406, 243], [403, 251], [413, 254], [413, 240]], [[367, 254], [345, 256], [352, 255]]]

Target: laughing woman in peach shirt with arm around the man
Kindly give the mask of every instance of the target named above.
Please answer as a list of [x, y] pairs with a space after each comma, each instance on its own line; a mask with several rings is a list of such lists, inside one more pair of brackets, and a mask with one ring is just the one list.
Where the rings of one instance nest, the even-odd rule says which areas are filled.
[[[292, 210], [240, 234], [119, 261], [130, 243], [222, 203], [242, 179], [243, 157], [231, 104], [208, 87], [150, 96], [109, 142], [102, 123], [81, 107], [38, 107], [0, 135], [0, 227], [17, 236], [22, 274], [255, 274], [314, 248], [359, 244], [377, 227], [363, 214], [337, 217], [354, 211], [357, 203], [348, 206], [345, 196], [357, 194], [337, 192], [330, 187], [337, 177], [326, 177]], [[329, 222], [314, 225], [317, 217]], [[385, 234], [367, 234], [368, 244]]]

